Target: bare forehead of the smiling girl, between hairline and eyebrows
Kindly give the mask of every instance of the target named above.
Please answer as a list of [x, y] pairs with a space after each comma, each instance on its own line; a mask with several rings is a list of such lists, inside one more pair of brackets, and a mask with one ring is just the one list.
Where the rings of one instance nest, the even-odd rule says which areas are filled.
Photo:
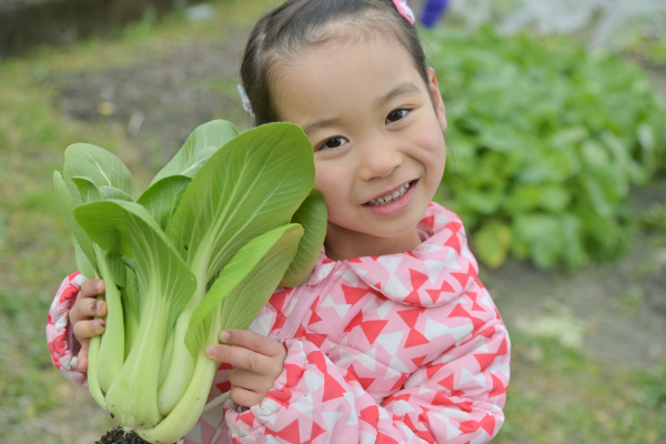
[[278, 112], [293, 122], [303, 113], [366, 110], [400, 84], [424, 87], [411, 56], [393, 39], [331, 39], [274, 69]]

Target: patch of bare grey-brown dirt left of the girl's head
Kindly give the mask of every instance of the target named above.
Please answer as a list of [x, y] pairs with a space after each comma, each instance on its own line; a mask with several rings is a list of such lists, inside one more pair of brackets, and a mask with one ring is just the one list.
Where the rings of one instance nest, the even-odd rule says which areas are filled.
[[[144, 148], [149, 169], [164, 165], [199, 124], [213, 119], [239, 129], [251, 122], [241, 107], [236, 72], [249, 31], [232, 29], [219, 44], [180, 47], [164, 58], [127, 68], [53, 78], [56, 107], [89, 123], [127, 127]], [[104, 108], [105, 107], [105, 108]]]

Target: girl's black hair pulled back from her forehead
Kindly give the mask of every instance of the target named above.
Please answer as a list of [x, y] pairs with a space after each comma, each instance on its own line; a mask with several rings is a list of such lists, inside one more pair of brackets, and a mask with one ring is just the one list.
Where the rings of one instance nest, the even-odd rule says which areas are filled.
[[[335, 26], [345, 27], [345, 34], [335, 33], [332, 28]], [[275, 62], [331, 39], [377, 36], [400, 43], [425, 84], [428, 83], [416, 28], [400, 14], [392, 0], [289, 0], [265, 14], [252, 31], [241, 63], [241, 80], [252, 105], [254, 124], [281, 120], [271, 90]]]

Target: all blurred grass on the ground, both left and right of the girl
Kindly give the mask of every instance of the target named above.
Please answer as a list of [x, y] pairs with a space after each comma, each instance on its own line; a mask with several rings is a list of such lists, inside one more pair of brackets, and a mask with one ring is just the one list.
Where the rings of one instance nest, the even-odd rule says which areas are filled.
[[[180, 12], [150, 16], [111, 40], [44, 48], [0, 62], [0, 436], [2, 443], [90, 443], [111, 422], [52, 366], [46, 314], [73, 251], [56, 203], [51, 174], [65, 147], [87, 141], [119, 155], [145, 185], [154, 173], [140, 147], [112, 121], [80, 122], [52, 105], [70, 73], [159, 60], [173, 48], [206, 44], [250, 26], [278, 0], [215, 3], [214, 20], [189, 22]], [[222, 13], [222, 9], [224, 13]], [[233, 79], [213, 88], [231, 91]], [[152, 143], [152, 142], [151, 142]], [[148, 147], [159, 150], [160, 147]], [[141, 147], [147, 149], [145, 147]], [[627, 294], [634, 310], [639, 293]], [[513, 332], [513, 330], [512, 330]], [[666, 365], [618, 371], [552, 339], [513, 334], [506, 424], [497, 443], [666, 442]], [[81, 414], [80, 411], [90, 412]]]

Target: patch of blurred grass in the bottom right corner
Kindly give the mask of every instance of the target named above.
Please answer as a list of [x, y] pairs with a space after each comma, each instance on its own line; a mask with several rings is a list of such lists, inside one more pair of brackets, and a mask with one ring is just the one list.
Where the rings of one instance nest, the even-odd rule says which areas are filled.
[[554, 339], [512, 332], [512, 384], [497, 444], [666, 442], [666, 363], [612, 369]]

